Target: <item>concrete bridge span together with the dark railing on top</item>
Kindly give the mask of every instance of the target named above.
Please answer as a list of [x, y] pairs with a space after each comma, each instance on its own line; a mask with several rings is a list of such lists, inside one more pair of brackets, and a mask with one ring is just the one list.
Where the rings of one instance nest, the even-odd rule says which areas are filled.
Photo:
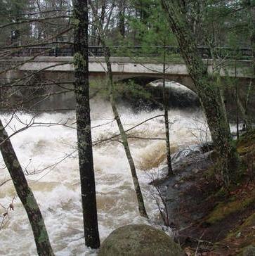
[[[105, 79], [105, 59], [102, 46], [89, 46], [89, 75], [91, 79]], [[159, 63], [162, 51], [166, 53], [166, 79], [171, 79], [192, 89], [192, 80], [180, 56], [180, 49], [175, 46], [150, 46], [144, 53], [142, 46], [110, 46], [113, 78], [115, 81], [124, 79], [140, 79], [150, 82], [162, 78], [162, 63]], [[0, 52], [1, 53], [1, 52]], [[73, 81], [74, 66], [72, 65], [73, 48], [66, 45], [27, 47], [16, 49], [0, 56], [0, 82], [10, 83], [12, 79], [21, 78], [24, 73], [34, 72], [41, 79], [61, 77]], [[197, 54], [203, 59], [209, 73], [217, 72], [221, 77], [237, 77], [246, 82], [252, 77], [249, 48], [231, 49], [215, 48], [214, 53], [207, 46], [198, 46]], [[145, 57], [146, 55], [146, 57]], [[136, 56], [127, 58], [125, 56]], [[212, 56], [216, 58], [213, 62]], [[235, 60], [233, 60], [235, 59]], [[223, 61], [224, 60], [224, 61]], [[6, 70], [6, 72], [3, 72]]]

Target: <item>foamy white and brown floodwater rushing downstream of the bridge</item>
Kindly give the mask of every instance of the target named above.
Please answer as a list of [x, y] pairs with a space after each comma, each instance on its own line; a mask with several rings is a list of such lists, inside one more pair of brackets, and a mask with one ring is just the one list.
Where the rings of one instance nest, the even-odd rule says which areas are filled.
[[[124, 107], [120, 112], [125, 129], [155, 115], [162, 115], [159, 110], [133, 113]], [[22, 122], [29, 122], [32, 115], [19, 114], [18, 117]], [[1, 115], [1, 118], [3, 122], [8, 122], [11, 115]], [[93, 101], [91, 118], [94, 127], [93, 141], [118, 133], [117, 125], [111, 122], [112, 112], [108, 103]], [[152, 140], [164, 138], [162, 118], [152, 119], [130, 132], [132, 137], [136, 137], [130, 139], [131, 153], [138, 167], [138, 177], [150, 220], [138, 214], [136, 194], [122, 144], [117, 141], [107, 141], [93, 148], [101, 241], [111, 231], [125, 224], [160, 224], [159, 212], [148, 182], [151, 181], [151, 174], [164, 175], [160, 172], [165, 165], [162, 154], [164, 141]], [[200, 142], [205, 134], [204, 117], [199, 111], [188, 113], [171, 110], [169, 118], [171, 122], [174, 121], [174, 124], [171, 124], [170, 134], [172, 151], [177, 151], [181, 146], [188, 147]], [[13, 118], [7, 129], [9, 135], [24, 127], [20, 120]], [[39, 174], [27, 175], [27, 180], [44, 216], [55, 255], [96, 255], [95, 251], [84, 247], [76, 153], [77, 136], [74, 129], [75, 113], [44, 113], [35, 117], [35, 122], [38, 123], [35, 127], [12, 136], [11, 141], [27, 173], [41, 170]], [[63, 125], [48, 127], [49, 122], [65, 123], [69, 127]], [[146, 137], [150, 140], [137, 139], [137, 137]], [[155, 162], [152, 159], [155, 159]], [[58, 164], [55, 165], [56, 163]], [[0, 165], [3, 166], [2, 160]], [[8, 178], [7, 170], [1, 169], [0, 183]], [[11, 181], [0, 187], [1, 205], [8, 206], [13, 196], [15, 190]], [[3, 212], [4, 209], [0, 206], [0, 214], [2, 215]], [[36, 255], [32, 230], [18, 198], [14, 200], [14, 211], [8, 215], [8, 221], [0, 231], [0, 241], [0, 255]]]

